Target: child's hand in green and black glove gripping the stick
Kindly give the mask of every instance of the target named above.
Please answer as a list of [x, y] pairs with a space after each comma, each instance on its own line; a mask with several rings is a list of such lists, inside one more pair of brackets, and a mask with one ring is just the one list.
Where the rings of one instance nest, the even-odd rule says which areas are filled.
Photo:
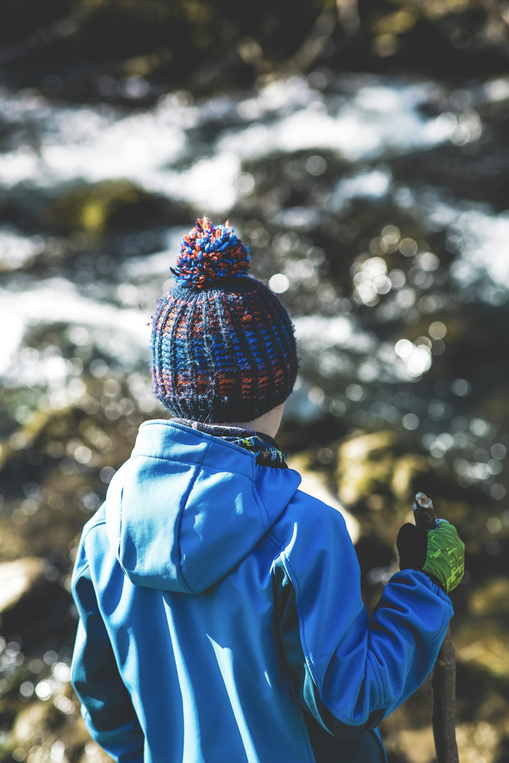
[[456, 527], [437, 520], [435, 530], [422, 530], [411, 523], [401, 526], [396, 547], [401, 570], [421, 570], [446, 594], [459, 584], [465, 571], [465, 543]]

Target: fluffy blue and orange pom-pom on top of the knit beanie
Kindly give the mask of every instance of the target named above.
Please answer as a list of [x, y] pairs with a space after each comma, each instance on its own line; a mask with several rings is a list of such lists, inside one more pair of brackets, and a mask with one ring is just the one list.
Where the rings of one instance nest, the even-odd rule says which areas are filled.
[[182, 238], [175, 268], [170, 268], [179, 286], [201, 289], [221, 279], [246, 275], [250, 269], [247, 247], [226, 221], [214, 227], [208, 217]]

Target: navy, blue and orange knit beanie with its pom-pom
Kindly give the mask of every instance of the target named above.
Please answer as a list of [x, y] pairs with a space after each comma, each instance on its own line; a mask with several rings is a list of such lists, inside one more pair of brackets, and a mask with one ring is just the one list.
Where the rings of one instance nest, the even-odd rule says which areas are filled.
[[153, 391], [176, 416], [252, 421], [292, 392], [292, 321], [249, 268], [229, 222], [203, 217], [182, 238], [176, 285], [157, 302], [152, 330]]

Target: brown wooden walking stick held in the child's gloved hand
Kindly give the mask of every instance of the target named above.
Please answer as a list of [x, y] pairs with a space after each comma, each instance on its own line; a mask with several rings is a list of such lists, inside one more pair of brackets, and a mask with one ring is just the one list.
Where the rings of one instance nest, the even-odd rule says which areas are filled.
[[[433, 503], [424, 493], [417, 493], [414, 504], [415, 525], [424, 530], [437, 526]], [[458, 763], [456, 745], [456, 652], [450, 626], [440, 647], [431, 678], [431, 723], [437, 751], [437, 763]]]

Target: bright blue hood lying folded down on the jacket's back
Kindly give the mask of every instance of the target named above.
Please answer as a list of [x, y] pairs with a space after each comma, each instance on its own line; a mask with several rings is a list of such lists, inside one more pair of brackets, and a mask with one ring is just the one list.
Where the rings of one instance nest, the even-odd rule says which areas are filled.
[[147, 421], [108, 488], [108, 541], [133, 584], [199, 594], [249, 554], [300, 483], [220, 437]]

